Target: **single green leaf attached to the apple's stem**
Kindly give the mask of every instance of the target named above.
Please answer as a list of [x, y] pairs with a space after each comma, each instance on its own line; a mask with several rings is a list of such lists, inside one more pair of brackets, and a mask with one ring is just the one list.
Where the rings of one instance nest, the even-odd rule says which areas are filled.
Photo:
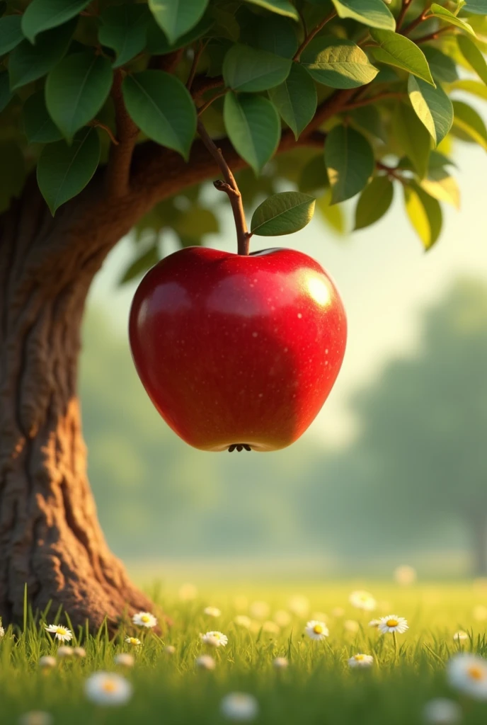
[[262, 202], [252, 215], [250, 231], [257, 236], [293, 234], [312, 220], [315, 199], [299, 191], [283, 191]]

